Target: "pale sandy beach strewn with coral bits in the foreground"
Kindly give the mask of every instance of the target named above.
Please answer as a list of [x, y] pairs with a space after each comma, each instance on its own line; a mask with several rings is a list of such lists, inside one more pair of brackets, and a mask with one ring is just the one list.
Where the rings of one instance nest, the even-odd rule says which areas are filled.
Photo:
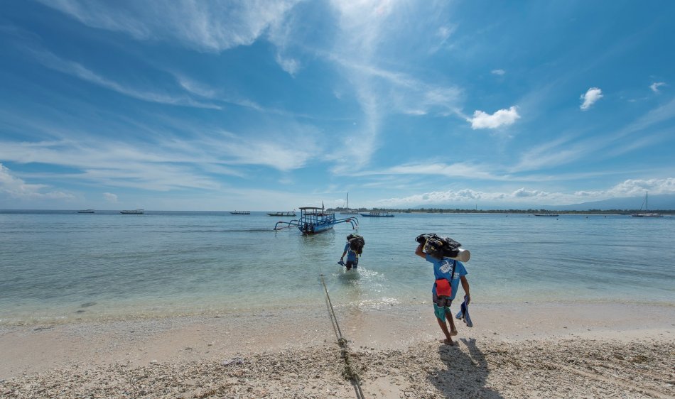
[[[2, 398], [673, 398], [675, 307], [428, 306], [0, 327]], [[360, 386], [355, 383], [357, 376]]]

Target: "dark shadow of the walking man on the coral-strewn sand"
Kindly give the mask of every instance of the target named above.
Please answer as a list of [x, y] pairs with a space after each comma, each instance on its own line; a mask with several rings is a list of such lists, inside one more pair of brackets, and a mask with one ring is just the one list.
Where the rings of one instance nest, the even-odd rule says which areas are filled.
[[[466, 354], [460, 346], [465, 345]], [[429, 381], [446, 398], [503, 398], [499, 392], [485, 387], [487, 381], [487, 359], [476, 346], [475, 339], [459, 339], [454, 346], [442, 345], [438, 355], [446, 369], [432, 370]]]

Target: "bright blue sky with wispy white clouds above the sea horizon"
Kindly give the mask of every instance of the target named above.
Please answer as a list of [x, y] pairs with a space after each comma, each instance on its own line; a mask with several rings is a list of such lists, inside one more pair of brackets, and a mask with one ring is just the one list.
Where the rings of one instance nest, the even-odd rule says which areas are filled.
[[675, 193], [672, 1], [0, 7], [0, 209]]

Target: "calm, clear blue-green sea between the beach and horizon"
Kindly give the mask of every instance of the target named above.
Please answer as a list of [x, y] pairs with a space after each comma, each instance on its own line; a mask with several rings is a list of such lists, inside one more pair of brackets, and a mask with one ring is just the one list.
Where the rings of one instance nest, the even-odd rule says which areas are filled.
[[[335, 307], [395, 312], [431, 300], [431, 263], [414, 254], [423, 233], [470, 251], [474, 306], [675, 306], [675, 217], [356, 218], [356, 230], [303, 236], [275, 230], [294, 218], [266, 212], [0, 211], [0, 325], [302, 311], [324, 307], [326, 291]], [[365, 247], [347, 271], [338, 260], [351, 233]]]

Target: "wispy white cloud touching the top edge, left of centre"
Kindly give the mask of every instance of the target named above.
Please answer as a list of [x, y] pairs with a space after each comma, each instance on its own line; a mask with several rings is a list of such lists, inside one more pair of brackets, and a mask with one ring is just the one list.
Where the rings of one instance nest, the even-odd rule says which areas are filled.
[[92, 28], [123, 32], [138, 40], [178, 42], [212, 52], [254, 43], [298, 3], [298, 0], [41, 1]]

